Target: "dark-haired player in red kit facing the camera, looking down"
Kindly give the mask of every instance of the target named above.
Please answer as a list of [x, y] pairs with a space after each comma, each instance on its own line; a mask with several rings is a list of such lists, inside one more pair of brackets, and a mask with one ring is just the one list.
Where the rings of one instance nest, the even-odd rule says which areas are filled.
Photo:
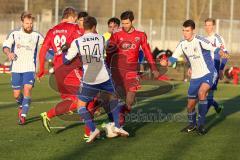
[[[137, 71], [140, 47], [155, 78], [159, 77], [159, 72], [153, 60], [146, 34], [136, 30], [133, 26], [133, 12], [125, 11], [120, 18], [122, 28], [113, 33], [109, 40], [106, 61], [111, 67], [117, 89], [123, 88], [123, 92], [119, 94], [125, 97], [124, 112], [127, 113], [131, 110], [136, 91], [140, 86]], [[124, 120], [122, 122], [124, 123]]]

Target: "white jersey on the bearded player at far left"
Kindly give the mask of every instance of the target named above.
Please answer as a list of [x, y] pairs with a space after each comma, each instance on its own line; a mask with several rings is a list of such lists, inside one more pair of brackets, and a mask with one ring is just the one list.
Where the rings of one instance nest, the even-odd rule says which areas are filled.
[[43, 36], [35, 31], [26, 33], [22, 28], [12, 31], [3, 43], [3, 48], [9, 48], [17, 56], [12, 61], [11, 72], [35, 72], [38, 45], [43, 40]]

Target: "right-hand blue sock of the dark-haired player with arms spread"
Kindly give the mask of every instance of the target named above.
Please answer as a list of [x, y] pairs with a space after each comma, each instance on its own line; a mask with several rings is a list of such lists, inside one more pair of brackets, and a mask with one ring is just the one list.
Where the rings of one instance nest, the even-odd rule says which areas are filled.
[[206, 114], [208, 111], [208, 101], [199, 100], [198, 102], [198, 126], [205, 124]]

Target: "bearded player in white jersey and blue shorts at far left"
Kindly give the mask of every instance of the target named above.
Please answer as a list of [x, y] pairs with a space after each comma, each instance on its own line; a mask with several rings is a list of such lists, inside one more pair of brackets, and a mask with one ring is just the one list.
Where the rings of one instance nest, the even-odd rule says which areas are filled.
[[20, 125], [26, 123], [35, 82], [36, 57], [43, 36], [33, 31], [34, 17], [29, 12], [21, 14], [22, 27], [12, 31], [3, 43], [3, 52], [12, 62], [13, 96], [18, 103]]

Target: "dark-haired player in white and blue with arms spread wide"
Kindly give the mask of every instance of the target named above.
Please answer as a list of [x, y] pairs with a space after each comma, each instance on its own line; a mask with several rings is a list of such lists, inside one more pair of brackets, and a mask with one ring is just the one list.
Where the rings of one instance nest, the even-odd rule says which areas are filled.
[[170, 66], [175, 63], [181, 55], [184, 55], [188, 60], [192, 70], [187, 104], [189, 125], [182, 131], [192, 132], [196, 129], [195, 105], [198, 102], [199, 116], [197, 133], [203, 135], [206, 133], [204, 125], [208, 107], [207, 93], [217, 78], [217, 72], [210, 51], [215, 54], [219, 53], [222, 57], [226, 56], [226, 54], [220, 48], [212, 46], [207, 39], [195, 35], [194, 31], [194, 21], [185, 21], [183, 23], [184, 40], [180, 41], [172, 57], [168, 60], [162, 59], [160, 64], [162, 66]]

